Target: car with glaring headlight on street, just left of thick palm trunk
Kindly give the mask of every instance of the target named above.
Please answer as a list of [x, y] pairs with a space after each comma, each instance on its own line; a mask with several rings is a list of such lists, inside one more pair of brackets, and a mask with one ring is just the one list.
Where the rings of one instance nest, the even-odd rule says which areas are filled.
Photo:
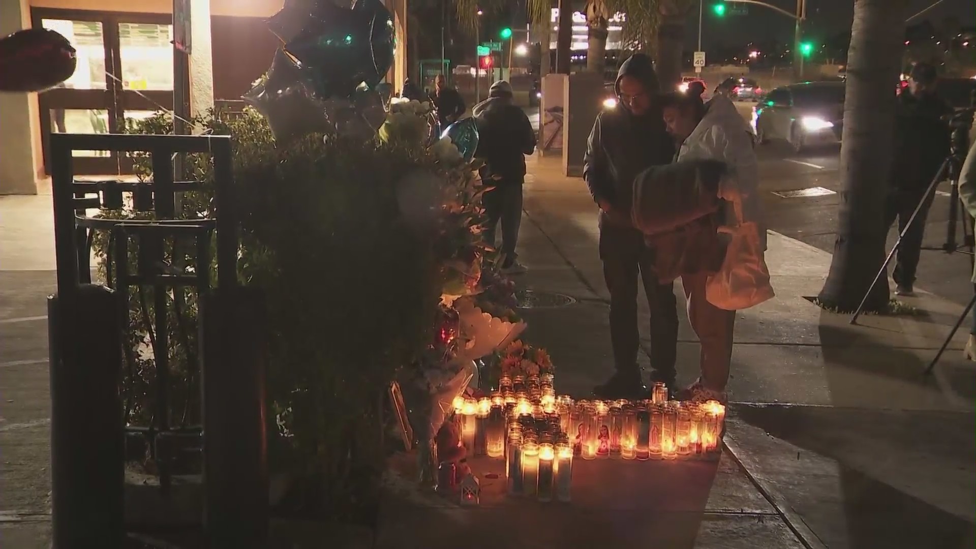
[[776, 88], [752, 107], [756, 142], [786, 141], [795, 152], [840, 143], [844, 82], [803, 82]]

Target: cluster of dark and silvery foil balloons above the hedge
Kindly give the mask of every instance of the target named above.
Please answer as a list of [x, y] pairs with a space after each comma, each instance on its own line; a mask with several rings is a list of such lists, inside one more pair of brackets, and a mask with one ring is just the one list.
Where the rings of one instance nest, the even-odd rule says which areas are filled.
[[310, 133], [368, 138], [386, 119], [376, 91], [393, 63], [393, 19], [381, 0], [286, 0], [267, 21], [282, 43], [244, 100], [274, 139]]

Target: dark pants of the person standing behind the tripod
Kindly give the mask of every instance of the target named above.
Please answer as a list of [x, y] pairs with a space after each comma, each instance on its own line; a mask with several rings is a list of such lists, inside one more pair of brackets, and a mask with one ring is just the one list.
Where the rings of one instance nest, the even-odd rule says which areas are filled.
[[[890, 229], [891, 224], [897, 218], [898, 233], [901, 234], [902, 231], [905, 231], [905, 227], [912, 219], [912, 214], [925, 194], [925, 190], [927, 190], [925, 185], [907, 190], [891, 190], [885, 205], [884, 227]], [[918, 269], [918, 257], [921, 254], [921, 240], [925, 235], [925, 219], [928, 218], [928, 210], [932, 206], [933, 198], [934, 194], [925, 197], [925, 202], [918, 210], [912, 227], [902, 237], [902, 243], [898, 246], [898, 256], [892, 273], [892, 277], [898, 285], [912, 286], [915, 284], [915, 271]]]

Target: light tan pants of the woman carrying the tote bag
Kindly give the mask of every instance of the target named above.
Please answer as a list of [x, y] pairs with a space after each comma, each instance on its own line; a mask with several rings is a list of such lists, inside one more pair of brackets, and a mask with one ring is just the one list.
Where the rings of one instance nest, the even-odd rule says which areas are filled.
[[702, 385], [712, 391], [725, 391], [732, 362], [732, 334], [735, 311], [718, 309], [705, 299], [707, 273], [681, 276], [688, 304], [688, 320], [701, 342]]

